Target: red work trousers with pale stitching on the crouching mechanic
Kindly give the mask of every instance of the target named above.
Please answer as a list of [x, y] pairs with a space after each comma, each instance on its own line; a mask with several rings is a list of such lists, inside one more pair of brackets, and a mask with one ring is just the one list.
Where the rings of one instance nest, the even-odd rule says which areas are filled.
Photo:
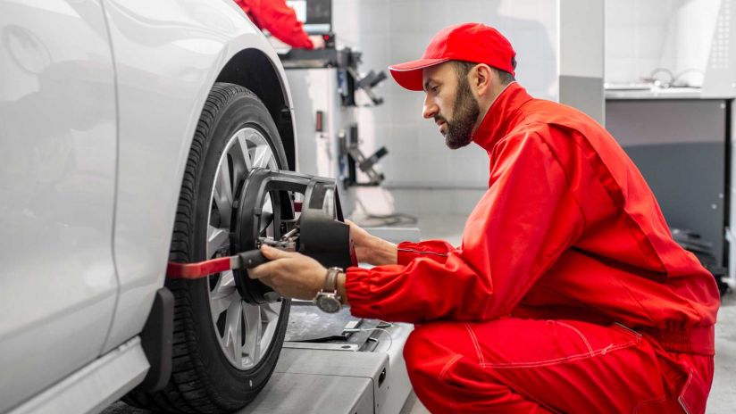
[[696, 414], [713, 379], [713, 356], [572, 320], [433, 322], [414, 330], [404, 356], [433, 413]]

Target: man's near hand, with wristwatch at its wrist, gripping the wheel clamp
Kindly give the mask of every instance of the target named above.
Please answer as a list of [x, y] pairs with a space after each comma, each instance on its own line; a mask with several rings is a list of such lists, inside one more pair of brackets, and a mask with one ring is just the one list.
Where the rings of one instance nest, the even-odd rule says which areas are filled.
[[266, 245], [261, 247], [261, 253], [271, 261], [248, 269], [248, 276], [271, 286], [282, 296], [311, 301], [324, 286], [327, 269], [319, 261]]

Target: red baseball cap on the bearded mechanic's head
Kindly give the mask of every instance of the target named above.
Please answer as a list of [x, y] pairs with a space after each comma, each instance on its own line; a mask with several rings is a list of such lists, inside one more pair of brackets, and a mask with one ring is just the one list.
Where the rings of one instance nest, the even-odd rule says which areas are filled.
[[422, 59], [389, 66], [391, 76], [406, 89], [421, 91], [422, 69], [447, 61], [485, 63], [514, 75], [516, 52], [498, 32], [481, 23], [463, 23], [442, 29], [432, 37]]

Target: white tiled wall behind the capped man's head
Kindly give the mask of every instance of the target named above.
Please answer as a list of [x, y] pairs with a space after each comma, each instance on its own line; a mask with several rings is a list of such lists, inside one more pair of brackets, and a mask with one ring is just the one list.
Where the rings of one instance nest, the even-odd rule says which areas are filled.
[[[556, 1], [333, 0], [332, 4], [339, 44], [363, 52], [364, 71], [387, 70], [391, 63], [418, 59], [439, 29], [478, 21], [509, 38], [517, 53], [516, 78], [531, 95], [557, 97]], [[434, 122], [422, 119], [422, 93], [406, 91], [390, 77], [378, 92], [385, 103], [361, 110], [360, 136], [366, 153], [381, 145], [389, 149], [381, 168], [389, 189], [402, 188], [391, 190], [397, 210], [469, 211], [488, 183], [486, 153], [476, 145], [448, 150]], [[456, 186], [466, 190], [450, 194], [447, 188]], [[469, 198], [473, 203], [468, 208], [463, 207], [466, 203], [447, 201]]]

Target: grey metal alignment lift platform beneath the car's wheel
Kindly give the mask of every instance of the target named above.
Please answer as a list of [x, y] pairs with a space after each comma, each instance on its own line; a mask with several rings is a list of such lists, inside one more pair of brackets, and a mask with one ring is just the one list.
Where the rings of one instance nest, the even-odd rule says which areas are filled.
[[[365, 228], [390, 242], [419, 241], [418, 228]], [[292, 301], [286, 341], [265, 388], [240, 413], [397, 414], [412, 386], [404, 364], [411, 324], [326, 314]]]

